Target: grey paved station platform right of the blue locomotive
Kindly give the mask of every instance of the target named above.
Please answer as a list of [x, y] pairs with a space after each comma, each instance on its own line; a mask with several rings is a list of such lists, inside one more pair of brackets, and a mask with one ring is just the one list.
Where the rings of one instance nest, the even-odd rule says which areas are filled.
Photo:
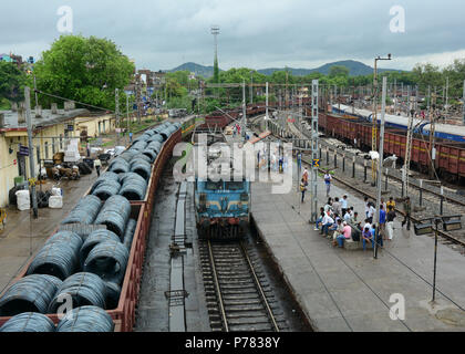
[[[349, 207], [364, 215], [362, 197], [331, 186], [331, 197], [348, 195]], [[271, 183], [252, 183], [251, 214], [258, 233], [316, 331], [423, 332], [465, 331], [465, 257], [438, 243], [436, 302], [433, 294], [434, 237], [415, 236], [394, 225], [394, 239], [373, 258], [363, 250], [333, 248], [313, 230], [310, 196], [300, 202], [296, 181], [286, 195], [271, 194]], [[326, 201], [318, 186], [319, 208]], [[405, 317], [391, 320], [404, 299]], [[392, 301], [392, 302], [391, 302]], [[402, 314], [402, 312], [396, 312]]]

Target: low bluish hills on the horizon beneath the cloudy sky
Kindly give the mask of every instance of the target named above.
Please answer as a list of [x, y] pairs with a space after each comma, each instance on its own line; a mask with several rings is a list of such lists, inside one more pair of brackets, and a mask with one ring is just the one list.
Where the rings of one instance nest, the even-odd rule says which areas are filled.
[[[349, 69], [349, 75], [351, 76], [370, 75], [373, 73], [373, 67], [365, 65], [362, 62], [354, 61], [354, 60], [344, 60], [344, 61], [328, 63], [317, 69], [294, 69], [294, 67], [287, 67], [287, 69], [292, 73], [292, 75], [296, 75], [296, 76], [304, 76], [304, 75], [316, 73], [316, 72], [321, 73], [323, 75], [328, 75], [331, 66], [335, 66], [335, 65], [341, 65]], [[199, 65], [192, 62], [185, 63], [175, 69], [168, 70], [168, 72], [184, 71], [184, 70], [187, 70], [188, 72], [193, 72], [196, 75], [202, 75], [204, 77], [211, 77], [214, 73], [213, 66], [204, 66], [204, 65]], [[285, 71], [285, 70], [286, 67], [269, 67], [269, 69], [260, 69], [257, 71], [265, 75], [271, 75], [275, 71]], [[386, 72], [386, 71], [397, 71], [397, 70], [378, 69], [379, 73]]]

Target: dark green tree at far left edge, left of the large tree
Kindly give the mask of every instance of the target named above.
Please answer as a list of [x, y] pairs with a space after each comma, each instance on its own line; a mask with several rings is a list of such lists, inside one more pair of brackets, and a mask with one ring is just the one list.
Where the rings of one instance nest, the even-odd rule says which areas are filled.
[[11, 102], [24, 100], [27, 75], [16, 63], [0, 61], [0, 98]]

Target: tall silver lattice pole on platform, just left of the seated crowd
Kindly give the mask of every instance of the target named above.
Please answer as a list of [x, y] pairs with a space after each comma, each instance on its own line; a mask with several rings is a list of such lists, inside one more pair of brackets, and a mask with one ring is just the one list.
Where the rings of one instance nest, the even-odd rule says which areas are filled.
[[[313, 162], [319, 157], [319, 142], [318, 142], [318, 80], [313, 80], [311, 84], [311, 178], [310, 178], [310, 188], [311, 188], [311, 204], [310, 204], [310, 221], [317, 222], [318, 218], [318, 167]], [[300, 176], [298, 176], [300, 177]]]

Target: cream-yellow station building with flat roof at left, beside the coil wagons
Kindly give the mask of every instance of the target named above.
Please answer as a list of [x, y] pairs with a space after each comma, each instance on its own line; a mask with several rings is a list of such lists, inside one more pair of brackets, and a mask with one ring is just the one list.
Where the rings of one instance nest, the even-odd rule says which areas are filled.
[[[40, 173], [41, 160], [52, 159], [55, 153], [64, 152], [70, 138], [94, 137], [114, 132], [115, 118], [112, 114], [95, 115], [87, 110], [74, 108], [65, 103], [64, 110], [31, 110], [33, 126], [33, 176]], [[9, 190], [14, 179], [31, 178], [29, 157], [20, 150], [28, 147], [25, 112], [22, 108], [0, 111], [0, 207], [9, 204]]]

